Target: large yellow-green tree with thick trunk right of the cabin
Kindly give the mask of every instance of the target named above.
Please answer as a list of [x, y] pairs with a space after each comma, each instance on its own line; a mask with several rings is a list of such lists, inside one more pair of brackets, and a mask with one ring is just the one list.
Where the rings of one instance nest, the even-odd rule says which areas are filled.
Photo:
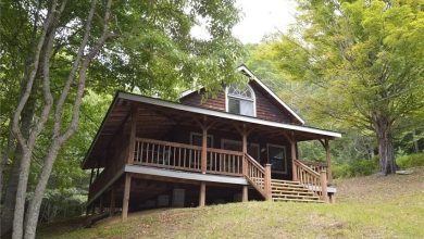
[[396, 172], [394, 134], [424, 106], [424, 13], [419, 1], [299, 1], [296, 28], [273, 42], [274, 62], [321, 87], [315, 108], [378, 142]]

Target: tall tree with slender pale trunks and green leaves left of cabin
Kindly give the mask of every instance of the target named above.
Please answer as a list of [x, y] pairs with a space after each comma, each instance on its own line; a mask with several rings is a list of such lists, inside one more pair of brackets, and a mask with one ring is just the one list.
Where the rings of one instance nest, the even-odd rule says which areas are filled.
[[[235, 63], [240, 47], [230, 35], [238, 16], [230, 0], [113, 4], [111, 0], [92, 0], [90, 4], [28, 0], [3, 5], [7, 12], [22, 12], [20, 16], [27, 26], [22, 30], [32, 33], [27, 35], [29, 42], [17, 42], [29, 49], [20, 54], [21, 62], [14, 62], [9, 51], [15, 50], [10, 47], [13, 37], [8, 39], [10, 48], [5, 48], [4, 54], [10, 65], [18, 65], [16, 75], [22, 76], [17, 81], [11, 79], [22, 87], [13, 121], [7, 124], [13, 131], [10, 141], [21, 151], [13, 159], [18, 165], [13, 238], [35, 237], [43, 192], [58, 154], [77, 129], [86, 88], [100, 92], [124, 88], [175, 98], [185, 87], [203, 85], [213, 91], [223, 81], [238, 80]], [[16, 17], [10, 16], [10, 21]], [[207, 21], [210, 39], [190, 35], [199, 18]], [[2, 36], [12, 36], [14, 32], [13, 24], [1, 29]], [[1, 54], [2, 59], [4, 55]], [[28, 105], [34, 106], [26, 116]], [[68, 117], [66, 112], [71, 112]], [[51, 140], [41, 152], [42, 166], [36, 172], [35, 185], [28, 187], [35, 149], [46, 138]], [[3, 147], [14, 144], [5, 143], [3, 138], [1, 141]], [[4, 152], [13, 151], [13, 147], [5, 148]], [[4, 155], [3, 162], [9, 161], [10, 154]], [[34, 191], [25, 212], [29, 188]]]

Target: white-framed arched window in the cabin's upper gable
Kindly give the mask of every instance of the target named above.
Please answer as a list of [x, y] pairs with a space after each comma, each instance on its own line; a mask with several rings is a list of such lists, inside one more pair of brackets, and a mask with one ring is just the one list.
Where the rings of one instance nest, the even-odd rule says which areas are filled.
[[227, 87], [226, 110], [233, 114], [255, 116], [255, 99], [252, 88], [249, 85], [245, 89]]

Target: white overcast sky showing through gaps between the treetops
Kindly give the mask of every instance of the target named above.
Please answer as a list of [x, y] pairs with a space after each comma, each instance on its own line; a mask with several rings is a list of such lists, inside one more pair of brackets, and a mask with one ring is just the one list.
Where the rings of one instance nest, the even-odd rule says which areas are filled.
[[[295, 0], [236, 0], [236, 7], [241, 10], [241, 20], [233, 35], [242, 43], [258, 43], [269, 34], [285, 33], [295, 23]], [[204, 24], [204, 21], [198, 21]], [[191, 35], [203, 39], [210, 37], [204, 26], [195, 26]]]

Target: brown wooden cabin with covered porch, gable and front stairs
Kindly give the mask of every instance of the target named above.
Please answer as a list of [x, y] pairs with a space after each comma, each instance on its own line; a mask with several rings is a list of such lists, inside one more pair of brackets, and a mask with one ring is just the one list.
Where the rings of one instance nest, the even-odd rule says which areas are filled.
[[[204, 89], [171, 102], [117, 92], [83, 162], [91, 169], [87, 214], [204, 206], [248, 200], [334, 202], [329, 140], [245, 65], [244, 89]], [[317, 140], [322, 163], [299, 159]]]

